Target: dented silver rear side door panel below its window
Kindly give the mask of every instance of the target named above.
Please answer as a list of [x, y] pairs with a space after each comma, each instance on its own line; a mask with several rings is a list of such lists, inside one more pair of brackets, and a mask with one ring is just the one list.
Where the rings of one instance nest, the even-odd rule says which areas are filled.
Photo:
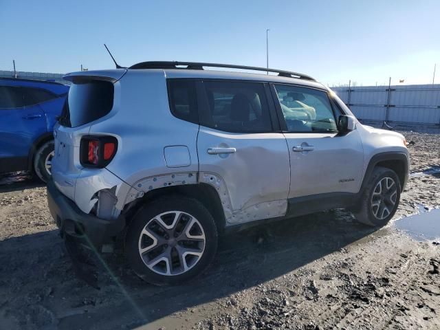
[[[210, 154], [210, 148], [236, 151]], [[219, 191], [228, 224], [285, 215], [287, 203], [279, 202], [287, 201], [290, 164], [282, 133], [225, 133], [201, 126], [197, 150], [200, 179]]]

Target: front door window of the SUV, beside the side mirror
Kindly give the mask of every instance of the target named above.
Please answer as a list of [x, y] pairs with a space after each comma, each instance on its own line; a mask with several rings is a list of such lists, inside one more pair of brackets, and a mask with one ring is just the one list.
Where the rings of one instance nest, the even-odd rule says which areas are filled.
[[275, 85], [289, 132], [337, 132], [335, 115], [325, 91]]

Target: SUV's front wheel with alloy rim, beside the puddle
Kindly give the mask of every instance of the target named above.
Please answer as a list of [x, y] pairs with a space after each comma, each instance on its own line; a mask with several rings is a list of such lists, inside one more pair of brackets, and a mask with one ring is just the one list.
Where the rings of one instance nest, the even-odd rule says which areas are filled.
[[393, 218], [400, 201], [400, 181], [394, 170], [374, 168], [360, 197], [360, 207], [354, 212], [358, 222], [382, 227]]

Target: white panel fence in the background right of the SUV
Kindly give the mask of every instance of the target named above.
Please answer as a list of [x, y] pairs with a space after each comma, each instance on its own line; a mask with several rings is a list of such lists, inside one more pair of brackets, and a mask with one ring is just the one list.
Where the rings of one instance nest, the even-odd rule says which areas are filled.
[[360, 120], [440, 124], [440, 85], [333, 87]]

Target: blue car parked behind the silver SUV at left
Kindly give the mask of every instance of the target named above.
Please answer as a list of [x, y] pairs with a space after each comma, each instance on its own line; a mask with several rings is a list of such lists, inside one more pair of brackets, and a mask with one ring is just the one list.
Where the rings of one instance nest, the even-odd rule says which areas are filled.
[[31, 170], [47, 181], [52, 131], [68, 91], [59, 83], [0, 78], [0, 173]]

